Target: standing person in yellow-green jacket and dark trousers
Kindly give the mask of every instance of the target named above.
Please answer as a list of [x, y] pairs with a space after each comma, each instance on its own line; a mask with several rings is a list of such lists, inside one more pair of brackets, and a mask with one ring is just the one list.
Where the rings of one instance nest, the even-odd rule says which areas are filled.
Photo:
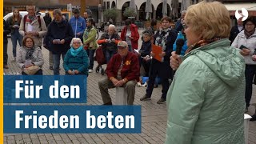
[[83, 33], [83, 44], [84, 44], [84, 47], [86, 48], [86, 52], [90, 59], [89, 71], [88, 71], [89, 73], [93, 72], [94, 52], [97, 49], [97, 43], [96, 43], [97, 30], [94, 28], [93, 24], [94, 24], [94, 19], [88, 18], [86, 20], [86, 30]]

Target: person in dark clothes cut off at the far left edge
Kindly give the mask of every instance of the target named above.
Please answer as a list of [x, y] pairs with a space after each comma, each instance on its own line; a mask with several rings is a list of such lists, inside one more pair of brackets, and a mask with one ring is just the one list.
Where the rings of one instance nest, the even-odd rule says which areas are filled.
[[3, 20], [3, 68], [9, 69], [7, 65], [8, 61], [8, 54], [7, 54], [7, 45], [8, 39], [7, 34], [10, 34], [10, 28], [5, 20]]

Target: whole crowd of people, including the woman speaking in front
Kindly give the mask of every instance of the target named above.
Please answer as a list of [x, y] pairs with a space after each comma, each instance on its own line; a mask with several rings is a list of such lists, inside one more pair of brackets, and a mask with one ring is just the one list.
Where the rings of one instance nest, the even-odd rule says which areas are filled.
[[[112, 105], [108, 89], [115, 87], [124, 87], [127, 104], [133, 105], [135, 86], [142, 77], [148, 80], [140, 100], [150, 100], [160, 78], [162, 95], [157, 103], [167, 102], [166, 143], [244, 142], [243, 114], [256, 82], [255, 18], [244, 22], [240, 18], [231, 28], [230, 14], [222, 3], [200, 2], [182, 11], [175, 29], [169, 17], [161, 19], [158, 29], [152, 20], [138, 46], [138, 27], [130, 19], [121, 35], [110, 24], [97, 40], [94, 19], [87, 13], [82, 18], [78, 9], [69, 21], [59, 9], [53, 10], [53, 20], [47, 12], [44, 18], [37, 16], [35, 6], [27, 6], [27, 11], [21, 18], [15, 9], [4, 21], [4, 68], [8, 68], [7, 34], [13, 44], [11, 62], [17, 62], [24, 75], [43, 74], [44, 46], [54, 75], [59, 74], [62, 57], [67, 75], [88, 76], [101, 45], [107, 66], [98, 88], [104, 105]], [[250, 120], [256, 120], [256, 110]]]

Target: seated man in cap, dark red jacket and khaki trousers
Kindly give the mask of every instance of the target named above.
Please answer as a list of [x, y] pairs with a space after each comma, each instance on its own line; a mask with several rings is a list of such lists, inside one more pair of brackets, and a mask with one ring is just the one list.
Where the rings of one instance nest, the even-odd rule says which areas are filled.
[[139, 79], [139, 65], [136, 54], [128, 51], [128, 44], [118, 42], [118, 54], [110, 59], [106, 66], [107, 78], [98, 82], [104, 105], [112, 105], [108, 89], [124, 87], [128, 94], [128, 105], [134, 104], [135, 85]]

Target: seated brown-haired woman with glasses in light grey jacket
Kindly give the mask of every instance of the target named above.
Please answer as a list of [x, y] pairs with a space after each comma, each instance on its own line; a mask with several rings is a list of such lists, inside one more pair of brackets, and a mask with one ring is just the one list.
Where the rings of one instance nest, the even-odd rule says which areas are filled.
[[18, 67], [22, 69], [22, 75], [42, 75], [42, 50], [34, 46], [34, 39], [26, 36], [22, 41], [22, 47], [17, 53]]

